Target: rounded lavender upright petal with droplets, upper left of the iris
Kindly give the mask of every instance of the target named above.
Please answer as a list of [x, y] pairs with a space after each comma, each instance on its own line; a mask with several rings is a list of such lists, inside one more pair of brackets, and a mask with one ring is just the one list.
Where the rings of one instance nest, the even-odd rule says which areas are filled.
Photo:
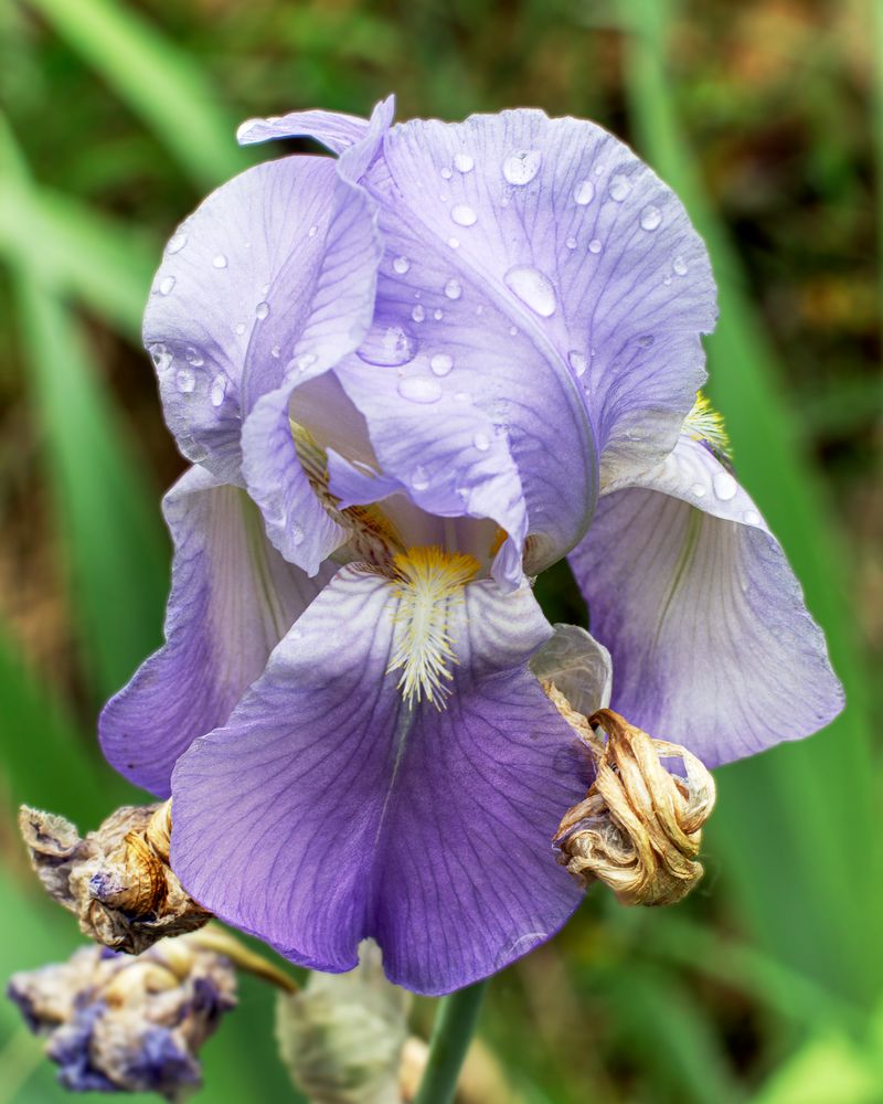
[[249, 169], [179, 226], [143, 340], [189, 459], [242, 481], [242, 422], [258, 386], [278, 386], [305, 352], [333, 363], [355, 348], [373, 309], [377, 256], [370, 201], [341, 189], [327, 158]]

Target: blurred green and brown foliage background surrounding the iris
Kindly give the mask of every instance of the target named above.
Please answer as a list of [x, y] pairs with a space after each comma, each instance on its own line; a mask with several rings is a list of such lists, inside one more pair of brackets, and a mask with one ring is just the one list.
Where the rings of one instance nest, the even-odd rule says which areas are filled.
[[[168, 585], [158, 505], [183, 464], [138, 339], [163, 241], [210, 188], [283, 151], [237, 149], [247, 116], [366, 114], [391, 91], [400, 118], [538, 106], [627, 139], [705, 236], [711, 394], [849, 708], [719, 773], [706, 879], [685, 904], [628, 911], [596, 889], [496, 978], [481, 1031], [501, 1104], [883, 1101], [881, 9], [0, 6], [0, 979], [79, 941], [26, 869], [18, 803], [86, 829], [132, 796], [94, 731], [158, 644]], [[579, 615], [563, 572], [543, 599]], [[432, 1011], [417, 1005], [424, 1031]], [[270, 1022], [272, 994], [246, 984], [199, 1101], [295, 1098]], [[63, 1096], [0, 1002], [0, 1104]]]

